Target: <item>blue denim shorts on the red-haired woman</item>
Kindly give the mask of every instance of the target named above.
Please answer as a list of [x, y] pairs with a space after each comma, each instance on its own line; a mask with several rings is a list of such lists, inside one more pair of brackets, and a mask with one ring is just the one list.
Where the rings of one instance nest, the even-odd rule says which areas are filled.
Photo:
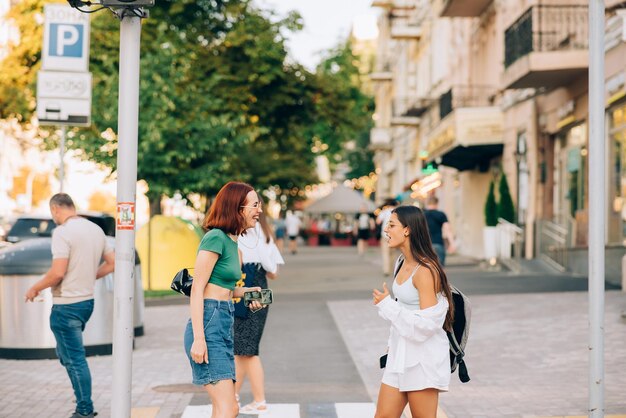
[[191, 365], [193, 383], [213, 384], [220, 380], [235, 381], [235, 356], [233, 354], [233, 312], [232, 301], [204, 299], [204, 339], [206, 340], [209, 362], [198, 364], [191, 359], [193, 328], [191, 319], [185, 329], [185, 353]]

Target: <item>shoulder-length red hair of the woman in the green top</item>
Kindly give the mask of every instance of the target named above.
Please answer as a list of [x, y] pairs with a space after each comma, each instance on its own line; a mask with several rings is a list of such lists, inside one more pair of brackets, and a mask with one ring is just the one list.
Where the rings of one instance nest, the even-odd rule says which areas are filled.
[[226, 183], [215, 197], [202, 226], [204, 229], [221, 229], [227, 234], [240, 235], [246, 227], [241, 206], [246, 204], [248, 193], [254, 191], [246, 183], [230, 181]]

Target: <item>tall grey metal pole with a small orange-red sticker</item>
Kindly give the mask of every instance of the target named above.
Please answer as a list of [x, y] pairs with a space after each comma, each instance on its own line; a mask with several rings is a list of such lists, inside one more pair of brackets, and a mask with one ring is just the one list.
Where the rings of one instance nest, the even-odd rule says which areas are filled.
[[117, 151], [117, 233], [113, 310], [113, 385], [111, 416], [129, 418], [135, 282], [135, 200], [139, 120], [139, 41], [141, 18], [117, 11], [120, 23], [120, 81]]

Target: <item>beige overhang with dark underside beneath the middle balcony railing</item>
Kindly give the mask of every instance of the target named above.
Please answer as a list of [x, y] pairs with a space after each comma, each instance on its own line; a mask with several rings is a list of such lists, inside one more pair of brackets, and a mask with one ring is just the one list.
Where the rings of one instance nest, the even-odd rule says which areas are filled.
[[429, 135], [428, 161], [459, 171], [483, 171], [502, 154], [503, 144], [503, 116], [498, 107], [454, 109]]

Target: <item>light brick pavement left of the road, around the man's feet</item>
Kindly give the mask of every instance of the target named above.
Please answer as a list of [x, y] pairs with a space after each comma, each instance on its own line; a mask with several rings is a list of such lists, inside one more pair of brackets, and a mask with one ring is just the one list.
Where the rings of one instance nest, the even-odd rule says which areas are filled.
[[[189, 404], [193, 388], [182, 349], [188, 311], [186, 305], [146, 308], [146, 334], [135, 339], [133, 352], [133, 417], [176, 417]], [[95, 408], [108, 417], [112, 356], [89, 357], [88, 362]], [[183, 391], [168, 391], [169, 385], [181, 385]], [[165, 390], [154, 390], [159, 387]], [[58, 360], [0, 359], [0, 417], [66, 418], [73, 410], [72, 388]]]

